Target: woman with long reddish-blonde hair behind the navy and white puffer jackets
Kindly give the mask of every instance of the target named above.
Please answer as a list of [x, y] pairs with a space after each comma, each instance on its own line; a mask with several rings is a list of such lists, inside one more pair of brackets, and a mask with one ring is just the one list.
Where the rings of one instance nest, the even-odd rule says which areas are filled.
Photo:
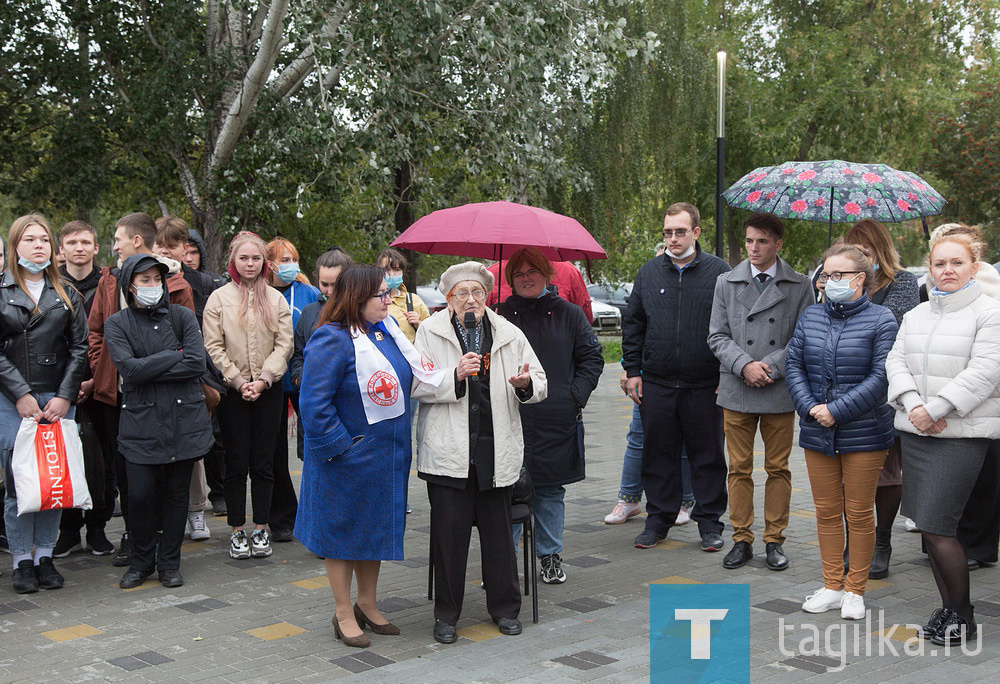
[[[863, 219], [851, 226], [844, 242], [861, 245], [872, 255], [875, 277], [869, 296], [873, 304], [881, 304], [892, 312], [896, 325], [901, 324], [903, 314], [920, 303], [920, 286], [917, 276], [900, 264], [889, 230], [874, 219]], [[882, 579], [889, 574], [892, 523], [896, 520], [903, 496], [901, 460], [899, 437], [896, 437], [889, 447], [875, 491], [875, 553], [868, 573], [871, 579]]]

